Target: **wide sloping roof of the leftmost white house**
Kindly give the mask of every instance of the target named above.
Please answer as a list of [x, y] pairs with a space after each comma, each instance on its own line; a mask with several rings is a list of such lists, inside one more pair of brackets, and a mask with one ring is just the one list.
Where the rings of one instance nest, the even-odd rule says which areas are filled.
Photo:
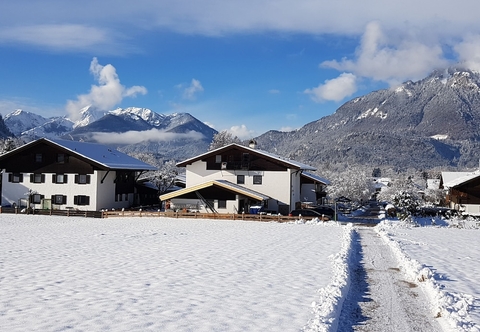
[[10, 154], [15, 154], [17, 151], [28, 149], [31, 146], [35, 146], [42, 142], [48, 145], [55, 145], [60, 149], [65, 150], [65, 152], [68, 151], [73, 155], [77, 155], [103, 169], [138, 171], [153, 171], [157, 169], [155, 166], [144, 163], [141, 160], [105, 145], [61, 139], [40, 138], [36, 141], [22, 145], [21, 147], [6, 153], [2, 157], [7, 157]]

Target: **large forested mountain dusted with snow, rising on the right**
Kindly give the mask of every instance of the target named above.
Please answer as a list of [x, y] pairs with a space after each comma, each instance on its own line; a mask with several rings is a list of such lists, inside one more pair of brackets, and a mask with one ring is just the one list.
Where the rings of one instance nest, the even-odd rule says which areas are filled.
[[417, 82], [371, 92], [292, 132], [269, 131], [259, 147], [317, 166], [476, 168], [480, 73], [437, 70]]

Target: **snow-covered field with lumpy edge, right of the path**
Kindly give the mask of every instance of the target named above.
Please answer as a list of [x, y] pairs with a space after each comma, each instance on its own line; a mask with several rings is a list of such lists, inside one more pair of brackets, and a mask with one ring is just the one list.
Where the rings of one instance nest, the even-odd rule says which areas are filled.
[[376, 230], [402, 270], [420, 281], [434, 316], [445, 317], [454, 331], [480, 331], [480, 230], [418, 221], [422, 227], [384, 220]]

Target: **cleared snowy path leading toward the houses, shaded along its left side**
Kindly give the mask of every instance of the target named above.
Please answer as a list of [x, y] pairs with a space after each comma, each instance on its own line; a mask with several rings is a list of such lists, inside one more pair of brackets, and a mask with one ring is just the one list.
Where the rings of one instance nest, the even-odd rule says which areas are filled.
[[421, 288], [405, 280], [391, 249], [372, 228], [357, 229], [352, 249], [359, 263], [352, 267], [339, 331], [442, 331]]

